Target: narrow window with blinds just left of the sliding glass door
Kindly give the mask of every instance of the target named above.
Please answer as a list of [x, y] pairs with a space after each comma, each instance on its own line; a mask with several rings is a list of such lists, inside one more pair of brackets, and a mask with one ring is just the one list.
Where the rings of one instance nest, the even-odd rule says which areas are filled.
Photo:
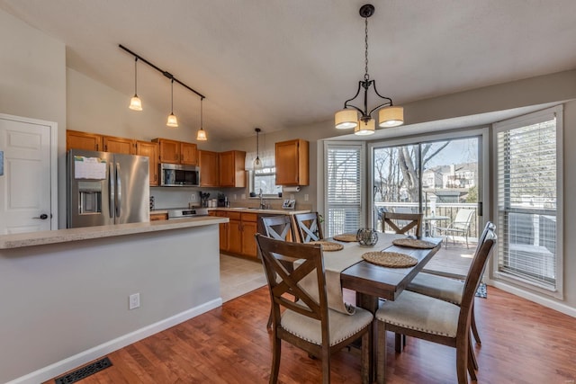
[[325, 147], [326, 235], [356, 233], [363, 222], [361, 170], [364, 147], [361, 144], [333, 144]]

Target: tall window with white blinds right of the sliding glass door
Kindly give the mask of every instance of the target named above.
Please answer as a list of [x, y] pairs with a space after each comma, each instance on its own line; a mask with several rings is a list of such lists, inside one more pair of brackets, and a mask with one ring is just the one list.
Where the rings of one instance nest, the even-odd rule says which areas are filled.
[[495, 124], [496, 275], [562, 297], [562, 106]]

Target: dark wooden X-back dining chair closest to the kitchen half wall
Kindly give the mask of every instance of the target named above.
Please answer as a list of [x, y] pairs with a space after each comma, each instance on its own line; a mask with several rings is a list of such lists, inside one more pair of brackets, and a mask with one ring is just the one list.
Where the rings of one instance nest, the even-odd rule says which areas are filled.
[[[276, 240], [256, 235], [257, 250], [264, 263], [273, 305], [273, 357], [270, 383], [275, 384], [280, 371], [282, 341], [301, 348], [322, 362], [322, 382], [330, 382], [330, 355], [362, 338], [362, 382], [369, 380], [368, 359], [372, 346], [373, 315], [356, 308], [354, 314], [330, 309], [324, 275], [324, 259], [320, 245]], [[282, 263], [284, 262], [284, 263]], [[293, 263], [293, 269], [285, 263]], [[315, 275], [315, 294], [302, 289], [300, 281]], [[287, 299], [290, 294], [297, 300]], [[284, 309], [284, 310], [283, 310]]]

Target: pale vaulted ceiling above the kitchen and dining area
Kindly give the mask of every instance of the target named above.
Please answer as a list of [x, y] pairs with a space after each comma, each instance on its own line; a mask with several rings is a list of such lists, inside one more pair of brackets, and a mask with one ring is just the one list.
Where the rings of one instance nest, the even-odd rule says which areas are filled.
[[[127, 95], [136, 52], [204, 94], [210, 138], [333, 119], [364, 78], [360, 0], [0, 0], [60, 40], [67, 67]], [[576, 68], [573, 0], [373, 1], [369, 73], [401, 105]], [[139, 62], [144, 108], [170, 112], [170, 82]], [[374, 96], [372, 96], [374, 101]], [[375, 101], [374, 101], [375, 104]], [[199, 126], [200, 98], [174, 86]]]

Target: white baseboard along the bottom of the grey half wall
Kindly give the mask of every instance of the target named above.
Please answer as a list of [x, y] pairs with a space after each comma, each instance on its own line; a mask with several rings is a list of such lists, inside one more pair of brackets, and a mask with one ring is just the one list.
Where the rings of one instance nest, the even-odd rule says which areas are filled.
[[130, 334], [121, 335], [109, 342], [96, 345], [84, 352], [77, 353], [74, 356], [70, 356], [67, 359], [50, 364], [47, 367], [41, 368], [38, 371], [33, 371], [27, 375], [24, 375], [18, 379], [9, 381], [7, 384], [38, 384], [46, 380], [61, 375], [64, 372], [70, 371], [79, 367], [86, 362], [92, 362], [100, 357], [103, 357], [107, 353], [112, 353], [119, 350], [126, 345], [136, 343], [150, 335], [157, 334], [158, 332], [164, 331], [165, 329], [175, 326], [177, 324], [183, 323], [193, 317], [202, 315], [202, 313], [208, 312], [213, 308], [218, 308], [222, 305], [222, 299], [214, 299], [202, 304], [201, 306], [190, 308], [181, 312], [173, 317], [167, 317], [164, 320], [160, 320], [157, 323], [150, 324], [149, 326], [144, 326]]

